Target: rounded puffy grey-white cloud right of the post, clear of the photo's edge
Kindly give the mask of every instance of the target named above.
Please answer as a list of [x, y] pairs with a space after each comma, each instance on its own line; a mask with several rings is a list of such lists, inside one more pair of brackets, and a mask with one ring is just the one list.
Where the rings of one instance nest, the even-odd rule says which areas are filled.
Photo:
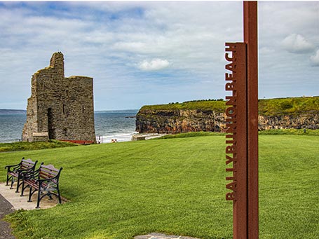
[[290, 53], [309, 53], [314, 46], [301, 34], [290, 34], [282, 41], [283, 48]]

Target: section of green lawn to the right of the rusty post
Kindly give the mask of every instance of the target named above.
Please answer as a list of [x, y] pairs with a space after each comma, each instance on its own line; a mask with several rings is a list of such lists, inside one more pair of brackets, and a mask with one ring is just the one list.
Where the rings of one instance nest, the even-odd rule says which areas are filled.
[[261, 238], [318, 238], [319, 138], [259, 136]]

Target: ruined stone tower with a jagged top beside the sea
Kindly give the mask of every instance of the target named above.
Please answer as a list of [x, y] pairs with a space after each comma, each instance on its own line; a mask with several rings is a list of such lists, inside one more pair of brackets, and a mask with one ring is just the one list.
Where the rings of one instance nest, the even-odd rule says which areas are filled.
[[32, 95], [27, 102], [27, 123], [22, 141], [47, 139], [96, 142], [93, 78], [65, 78], [62, 53], [53, 53], [50, 66], [32, 76]]

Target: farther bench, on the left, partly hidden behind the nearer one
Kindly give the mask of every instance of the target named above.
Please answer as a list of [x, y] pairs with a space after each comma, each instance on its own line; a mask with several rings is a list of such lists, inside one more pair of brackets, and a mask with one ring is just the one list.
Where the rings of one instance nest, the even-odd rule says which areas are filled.
[[8, 186], [8, 182], [11, 180], [10, 189], [13, 189], [13, 183], [15, 182], [15, 179], [17, 179], [17, 190], [15, 192], [18, 193], [19, 187], [22, 184], [22, 182], [20, 182], [20, 179], [22, 179], [22, 173], [34, 171], [36, 163], [38, 163], [38, 161], [33, 162], [31, 159], [25, 159], [25, 157], [23, 157], [21, 162], [18, 164], [6, 165], [5, 169], [8, 169], [6, 173], [6, 186]]

